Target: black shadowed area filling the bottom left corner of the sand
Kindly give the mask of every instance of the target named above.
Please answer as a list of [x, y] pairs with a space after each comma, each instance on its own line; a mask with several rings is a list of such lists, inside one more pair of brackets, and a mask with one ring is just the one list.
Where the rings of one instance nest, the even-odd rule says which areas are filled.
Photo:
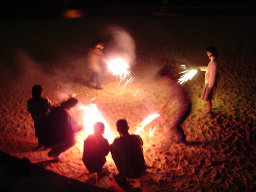
[[109, 191], [60, 176], [31, 164], [29, 159], [18, 159], [3, 152], [0, 152], [0, 170], [1, 191]]

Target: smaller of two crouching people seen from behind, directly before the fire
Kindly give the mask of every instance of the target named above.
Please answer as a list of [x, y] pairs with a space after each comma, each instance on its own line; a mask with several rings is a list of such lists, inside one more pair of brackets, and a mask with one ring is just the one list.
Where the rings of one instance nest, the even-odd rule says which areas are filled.
[[110, 152], [109, 141], [102, 135], [105, 126], [102, 122], [96, 122], [93, 125], [94, 134], [89, 135], [84, 140], [82, 161], [89, 170], [89, 173], [100, 174], [102, 170], [107, 169], [105, 165], [106, 157]]

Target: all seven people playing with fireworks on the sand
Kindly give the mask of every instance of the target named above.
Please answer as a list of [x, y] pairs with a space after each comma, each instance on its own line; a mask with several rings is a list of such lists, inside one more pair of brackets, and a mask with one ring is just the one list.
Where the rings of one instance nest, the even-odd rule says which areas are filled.
[[[103, 44], [99, 42], [95, 44], [94, 54], [100, 59]], [[97, 51], [100, 49], [100, 51]], [[92, 51], [92, 50], [91, 50]], [[99, 52], [99, 53], [98, 53]], [[210, 62], [207, 67], [200, 66], [198, 69], [205, 71], [205, 83], [202, 90], [202, 99], [207, 101], [207, 112], [211, 112], [211, 101], [214, 100], [217, 82], [218, 82], [218, 65], [216, 58], [217, 51], [214, 47], [206, 49]], [[94, 60], [93, 62], [99, 62]], [[101, 74], [99, 71], [93, 71], [91, 79], [97, 76], [97, 88], [101, 88]], [[181, 124], [185, 121], [191, 111], [190, 97], [184, 88], [177, 83], [177, 80], [165, 76], [163, 78], [169, 84], [168, 98], [160, 106], [158, 113], [161, 113], [166, 105], [172, 100], [176, 101], [179, 106], [174, 117], [174, 124], [170, 127], [177, 133], [177, 139], [171, 140], [172, 137], [167, 136], [161, 145], [162, 150], [168, 150], [170, 143], [187, 145], [186, 136], [182, 130]], [[27, 101], [28, 112], [34, 121], [35, 136], [38, 138], [37, 148], [50, 148], [48, 156], [55, 160], [62, 160], [64, 157], [61, 153], [67, 151], [76, 144], [75, 134], [83, 128], [69, 114], [77, 103], [76, 98], [69, 98], [60, 105], [53, 104], [48, 98], [43, 97], [43, 90], [39, 84], [35, 84], [32, 88], [32, 98]], [[109, 143], [103, 137], [104, 124], [96, 122], [93, 126], [94, 134], [89, 135], [84, 140], [84, 148], [82, 161], [89, 170], [89, 173], [101, 174], [108, 166], [105, 156], [111, 152], [112, 158], [116, 164], [118, 172], [113, 172], [114, 178], [119, 181], [125, 181], [126, 178], [139, 178], [145, 172], [147, 166], [143, 156], [143, 141], [139, 135], [129, 133], [129, 125], [125, 119], [119, 119], [116, 122], [116, 129], [120, 137], [115, 138], [113, 143]]]

